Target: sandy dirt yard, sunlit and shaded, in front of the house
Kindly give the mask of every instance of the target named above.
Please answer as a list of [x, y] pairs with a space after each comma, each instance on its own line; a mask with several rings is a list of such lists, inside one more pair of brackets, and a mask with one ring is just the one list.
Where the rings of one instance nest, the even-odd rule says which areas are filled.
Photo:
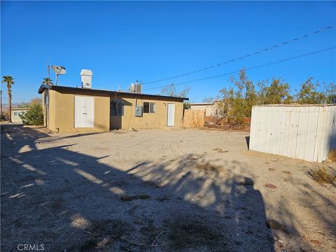
[[336, 186], [309, 176], [336, 164], [246, 137], [1, 125], [1, 251], [336, 251]]

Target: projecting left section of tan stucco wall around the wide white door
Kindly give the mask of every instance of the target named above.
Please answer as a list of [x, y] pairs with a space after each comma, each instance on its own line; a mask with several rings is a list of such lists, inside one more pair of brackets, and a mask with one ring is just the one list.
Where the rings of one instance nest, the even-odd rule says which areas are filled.
[[[74, 127], [75, 96], [94, 97], [94, 127]], [[59, 132], [109, 131], [110, 97], [107, 95], [87, 95], [61, 93], [50, 90], [49, 128]]]

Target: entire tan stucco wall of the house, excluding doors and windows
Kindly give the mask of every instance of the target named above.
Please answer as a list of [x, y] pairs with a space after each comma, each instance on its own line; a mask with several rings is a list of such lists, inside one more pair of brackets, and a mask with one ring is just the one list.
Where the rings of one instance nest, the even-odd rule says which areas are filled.
[[[45, 92], [45, 91], [44, 91]], [[94, 127], [74, 127], [75, 96], [94, 97]], [[146, 98], [146, 99], [143, 99]], [[144, 102], [155, 102], [155, 113], [143, 113], [134, 116], [136, 99], [129, 94], [94, 94], [87, 92], [76, 93], [49, 90], [48, 127], [55, 132], [94, 132], [113, 129], [164, 129], [183, 127], [183, 102], [165, 97], [137, 97], [137, 105], [144, 106]], [[124, 102], [123, 116], [110, 116], [110, 101], [118, 99]], [[44, 99], [43, 99], [44, 102]], [[174, 127], [167, 127], [168, 104], [175, 104]]]

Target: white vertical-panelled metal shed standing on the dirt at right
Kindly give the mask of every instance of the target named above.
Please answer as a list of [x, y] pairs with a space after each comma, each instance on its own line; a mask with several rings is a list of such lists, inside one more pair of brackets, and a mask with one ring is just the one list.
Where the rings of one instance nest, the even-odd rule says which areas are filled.
[[325, 161], [336, 149], [336, 104], [253, 106], [249, 149]]

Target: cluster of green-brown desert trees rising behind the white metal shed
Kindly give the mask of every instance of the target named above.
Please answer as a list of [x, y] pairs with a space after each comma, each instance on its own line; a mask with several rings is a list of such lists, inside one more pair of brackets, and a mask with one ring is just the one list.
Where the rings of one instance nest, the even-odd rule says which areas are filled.
[[[231, 126], [244, 125], [244, 118], [251, 117], [252, 107], [258, 104], [324, 104], [336, 103], [336, 84], [321, 85], [314, 78], [308, 78], [300, 86], [300, 90], [292, 93], [290, 85], [283, 78], [273, 78], [258, 82], [258, 91], [246, 71], [241, 69], [238, 78], [231, 77], [232, 87], [220, 90], [221, 103], [218, 103], [218, 115], [228, 118]], [[211, 97], [204, 102], [211, 102]]]

